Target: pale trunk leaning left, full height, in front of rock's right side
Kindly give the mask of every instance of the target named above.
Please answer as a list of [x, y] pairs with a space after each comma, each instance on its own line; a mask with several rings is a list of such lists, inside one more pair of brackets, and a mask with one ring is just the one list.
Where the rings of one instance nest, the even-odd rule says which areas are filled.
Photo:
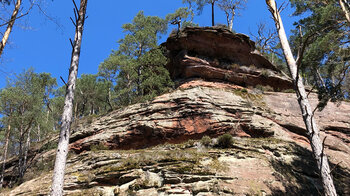
[[[307, 93], [305, 91], [302, 78], [298, 73], [297, 62], [295, 61], [292, 51], [289, 46], [289, 42], [283, 27], [282, 19], [276, 6], [275, 0], [266, 0], [266, 4], [275, 20], [278, 35], [281, 41], [283, 53], [287, 61], [288, 69], [292, 76], [292, 80], [295, 86], [298, 103], [301, 109], [303, 120], [308, 131], [310, 145], [313, 151], [313, 155], [317, 162], [317, 167], [322, 178], [322, 185], [324, 188], [325, 195], [335, 196], [337, 195], [333, 179], [331, 176], [331, 171], [328, 164], [327, 156], [324, 154], [323, 144], [320, 139], [319, 129], [316, 125], [313, 110], [311, 109], [310, 103], [307, 98]], [[300, 61], [298, 61], [300, 62]]]

